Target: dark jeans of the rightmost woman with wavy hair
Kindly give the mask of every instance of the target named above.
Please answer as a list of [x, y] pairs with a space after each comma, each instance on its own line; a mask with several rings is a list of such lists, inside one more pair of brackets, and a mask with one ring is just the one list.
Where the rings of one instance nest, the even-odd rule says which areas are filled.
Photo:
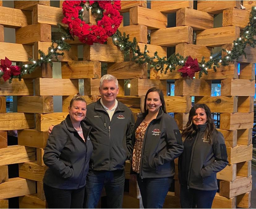
[[211, 208], [217, 190], [196, 190], [181, 185], [181, 208]]

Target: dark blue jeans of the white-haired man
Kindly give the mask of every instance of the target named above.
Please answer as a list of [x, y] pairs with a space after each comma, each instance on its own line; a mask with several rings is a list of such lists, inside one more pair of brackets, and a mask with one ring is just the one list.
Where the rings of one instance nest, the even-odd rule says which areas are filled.
[[105, 186], [107, 208], [122, 208], [125, 171], [89, 170], [86, 178], [83, 208], [96, 208]]

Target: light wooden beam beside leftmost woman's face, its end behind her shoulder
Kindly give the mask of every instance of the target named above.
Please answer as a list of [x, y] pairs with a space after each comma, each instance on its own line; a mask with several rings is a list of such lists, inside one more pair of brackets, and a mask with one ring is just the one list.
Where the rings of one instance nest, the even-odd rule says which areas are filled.
[[36, 130], [48, 131], [49, 126], [60, 124], [67, 115], [68, 113], [36, 114]]

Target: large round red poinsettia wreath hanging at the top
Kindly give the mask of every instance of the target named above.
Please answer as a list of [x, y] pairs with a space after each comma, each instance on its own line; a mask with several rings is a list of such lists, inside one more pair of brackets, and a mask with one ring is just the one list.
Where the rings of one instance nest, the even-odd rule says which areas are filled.
[[[95, 8], [103, 17], [97, 21], [97, 25], [91, 25], [83, 21], [83, 9]], [[109, 36], [112, 36], [120, 26], [123, 17], [119, 11], [120, 1], [64, 1], [62, 11], [63, 23], [67, 24], [71, 36], [78, 36], [82, 43], [92, 45], [94, 42], [103, 44]]]

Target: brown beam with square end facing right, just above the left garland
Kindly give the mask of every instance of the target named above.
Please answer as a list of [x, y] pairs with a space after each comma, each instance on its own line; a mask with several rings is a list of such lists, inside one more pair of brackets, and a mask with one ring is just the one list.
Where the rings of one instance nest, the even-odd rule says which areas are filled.
[[16, 44], [33, 45], [36, 41], [52, 41], [51, 26], [44, 23], [16, 28]]

